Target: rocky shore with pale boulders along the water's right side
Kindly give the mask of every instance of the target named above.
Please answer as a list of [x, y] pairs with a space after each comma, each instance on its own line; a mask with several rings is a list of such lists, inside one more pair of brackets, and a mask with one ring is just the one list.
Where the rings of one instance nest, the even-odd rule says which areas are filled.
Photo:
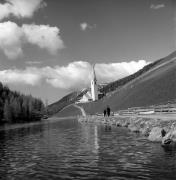
[[[163, 118], [162, 118], [163, 117]], [[126, 127], [135, 133], [141, 133], [149, 141], [160, 142], [164, 147], [176, 146], [176, 116], [86, 116], [79, 121], [97, 122], [118, 127]]]

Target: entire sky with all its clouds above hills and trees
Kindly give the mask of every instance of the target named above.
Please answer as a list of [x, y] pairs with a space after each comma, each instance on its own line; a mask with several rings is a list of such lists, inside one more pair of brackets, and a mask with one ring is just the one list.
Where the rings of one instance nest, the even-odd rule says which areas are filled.
[[0, 0], [0, 81], [44, 102], [135, 73], [176, 47], [175, 0]]

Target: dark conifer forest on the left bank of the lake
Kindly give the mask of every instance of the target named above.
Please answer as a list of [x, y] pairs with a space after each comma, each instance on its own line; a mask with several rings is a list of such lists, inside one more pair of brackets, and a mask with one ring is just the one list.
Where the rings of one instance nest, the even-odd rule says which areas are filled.
[[0, 123], [37, 121], [43, 112], [44, 104], [40, 99], [11, 91], [0, 82]]

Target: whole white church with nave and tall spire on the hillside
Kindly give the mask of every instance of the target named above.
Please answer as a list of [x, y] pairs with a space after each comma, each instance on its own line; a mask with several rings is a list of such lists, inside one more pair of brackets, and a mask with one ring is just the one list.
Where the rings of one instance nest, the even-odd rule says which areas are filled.
[[87, 91], [86, 94], [79, 100], [80, 103], [89, 102], [89, 101], [96, 101], [102, 97], [102, 93], [98, 90], [98, 83], [95, 74], [95, 64], [92, 66], [91, 72], [91, 86], [90, 90]]

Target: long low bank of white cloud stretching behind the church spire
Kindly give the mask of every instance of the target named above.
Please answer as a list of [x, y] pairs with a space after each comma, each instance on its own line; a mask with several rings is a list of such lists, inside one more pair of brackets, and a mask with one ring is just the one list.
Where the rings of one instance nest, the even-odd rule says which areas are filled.
[[[111, 82], [135, 73], [148, 63], [144, 60], [96, 64], [98, 83]], [[27, 67], [24, 70], [8, 69], [0, 71], [0, 81], [38, 85], [41, 81], [55, 88], [65, 90], [82, 89], [90, 86], [91, 65], [85, 61], [75, 61], [67, 66]]]

